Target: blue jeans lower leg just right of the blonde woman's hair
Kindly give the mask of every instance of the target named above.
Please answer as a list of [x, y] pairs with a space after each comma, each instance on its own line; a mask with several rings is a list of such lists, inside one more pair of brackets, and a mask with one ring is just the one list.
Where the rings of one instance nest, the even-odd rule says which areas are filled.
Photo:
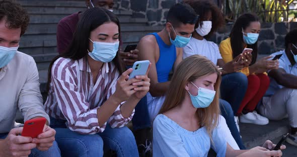
[[236, 127], [231, 105], [227, 101], [219, 99], [219, 108], [220, 108], [221, 115], [226, 119], [226, 123], [237, 145], [239, 146], [240, 149], [246, 149], [246, 147], [242, 143], [240, 134]]

